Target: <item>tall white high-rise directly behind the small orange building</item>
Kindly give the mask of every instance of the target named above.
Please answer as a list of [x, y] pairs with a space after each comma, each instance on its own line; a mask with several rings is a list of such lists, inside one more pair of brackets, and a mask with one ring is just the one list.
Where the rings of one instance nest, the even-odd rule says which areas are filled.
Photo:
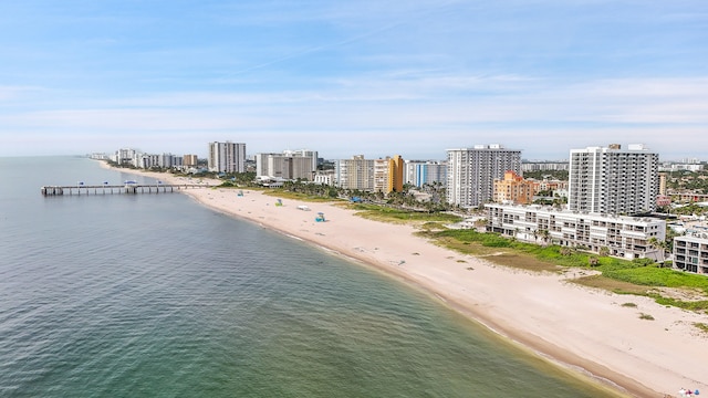
[[521, 150], [498, 144], [447, 149], [447, 201], [465, 208], [492, 201], [494, 179], [506, 171], [521, 175]]

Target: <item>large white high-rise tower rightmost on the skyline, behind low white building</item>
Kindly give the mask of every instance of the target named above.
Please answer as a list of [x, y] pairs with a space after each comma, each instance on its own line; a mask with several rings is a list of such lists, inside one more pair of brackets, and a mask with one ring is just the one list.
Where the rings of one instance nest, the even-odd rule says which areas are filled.
[[568, 208], [638, 214], [656, 209], [659, 156], [641, 144], [571, 149]]

